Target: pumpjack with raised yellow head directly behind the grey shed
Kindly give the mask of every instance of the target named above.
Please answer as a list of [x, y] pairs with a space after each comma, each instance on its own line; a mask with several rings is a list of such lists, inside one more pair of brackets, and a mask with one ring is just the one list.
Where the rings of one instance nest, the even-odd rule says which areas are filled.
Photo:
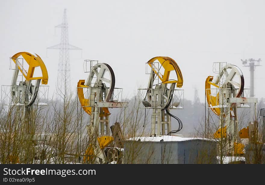
[[[180, 88], [183, 85], [183, 77], [176, 61], [170, 57], [154, 57], [147, 63], [151, 67], [148, 88], [138, 89], [145, 108], [152, 109], [151, 136], [171, 135], [182, 129], [182, 122], [170, 114], [170, 109], [182, 109], [179, 106], [180, 100], [174, 100], [175, 86]], [[173, 77], [170, 78], [170, 72]], [[175, 76], [174, 76], [175, 75]], [[142, 96], [141, 92], [146, 92]], [[175, 108], [173, 108], [175, 107]], [[171, 117], [179, 123], [177, 130], [171, 130]]]

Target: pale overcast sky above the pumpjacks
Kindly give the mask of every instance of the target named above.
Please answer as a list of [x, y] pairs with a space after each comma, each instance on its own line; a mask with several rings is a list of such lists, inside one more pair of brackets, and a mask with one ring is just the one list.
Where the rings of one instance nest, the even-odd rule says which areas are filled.
[[[145, 62], [169, 56], [181, 68], [186, 99], [193, 100], [194, 87], [204, 102], [204, 82], [213, 75], [213, 62], [239, 66], [250, 87], [248, 67], [241, 59], [261, 58], [255, 70], [255, 95], [264, 97], [265, 1], [2, 1], [0, 6], [1, 85], [10, 85], [13, 71], [9, 57], [33, 51], [48, 69], [50, 94], [55, 90], [59, 50], [46, 48], [60, 43], [67, 8], [69, 43], [83, 49], [70, 51], [71, 87], [83, 73], [84, 59], [108, 63], [123, 97], [146, 88]], [[56, 34], [55, 34], [56, 33]]]

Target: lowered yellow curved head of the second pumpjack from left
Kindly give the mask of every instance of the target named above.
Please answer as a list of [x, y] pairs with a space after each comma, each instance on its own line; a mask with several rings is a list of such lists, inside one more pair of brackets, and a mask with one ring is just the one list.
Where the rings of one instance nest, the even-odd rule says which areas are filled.
[[[82, 106], [82, 108], [84, 109], [84, 111], [91, 115], [91, 107], [89, 107], [89, 99], [86, 99], [84, 96], [84, 88], [88, 88], [89, 86], [85, 86], [85, 80], [79, 80], [77, 83], [77, 95], [78, 95], [78, 99], [80, 101], [80, 104]], [[99, 116], [107, 116], [110, 115], [111, 113], [109, 112], [107, 107], [103, 107], [103, 114], [100, 114]]]

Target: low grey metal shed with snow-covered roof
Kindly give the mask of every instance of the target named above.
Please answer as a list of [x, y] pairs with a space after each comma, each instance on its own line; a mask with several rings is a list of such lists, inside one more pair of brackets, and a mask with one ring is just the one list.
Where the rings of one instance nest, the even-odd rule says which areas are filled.
[[178, 136], [136, 137], [124, 141], [123, 163], [216, 164], [216, 141]]

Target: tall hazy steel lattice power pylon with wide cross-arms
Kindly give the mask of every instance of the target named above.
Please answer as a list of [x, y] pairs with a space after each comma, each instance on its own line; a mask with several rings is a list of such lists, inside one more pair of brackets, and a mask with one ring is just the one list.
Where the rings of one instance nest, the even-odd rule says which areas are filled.
[[61, 28], [61, 42], [60, 44], [53, 45], [47, 49], [59, 49], [59, 63], [58, 63], [58, 78], [57, 87], [59, 90], [66, 94], [67, 88], [70, 84], [70, 60], [69, 60], [69, 50], [82, 50], [74, 45], [69, 44], [68, 40], [68, 23], [66, 16], [66, 9], [64, 9], [63, 22], [55, 26], [55, 28]]

